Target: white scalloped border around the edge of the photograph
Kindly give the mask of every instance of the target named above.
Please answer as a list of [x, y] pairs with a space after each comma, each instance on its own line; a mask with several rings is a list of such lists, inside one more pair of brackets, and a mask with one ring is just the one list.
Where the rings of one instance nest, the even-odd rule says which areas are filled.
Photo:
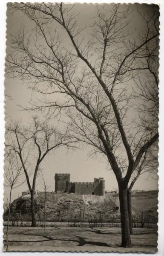
[[[26, 2], [43, 2], [43, 0], [26, 0]], [[0, 255], [3, 254], [3, 148], [4, 148], [4, 61], [5, 61], [5, 51], [6, 51], [6, 4], [7, 2], [16, 2], [14, 0], [0, 0]], [[21, 2], [17, 0], [17, 2]], [[25, 2], [25, 1], [24, 1]], [[55, 0], [45, 1], [45, 2], [57, 2]], [[164, 0], [69, 0], [64, 3], [155, 3], [160, 5], [160, 67], [159, 67], [159, 168], [158, 168], [158, 186], [159, 186], [159, 195], [158, 195], [158, 252], [155, 253], [155, 256], [164, 256]], [[12, 253], [12, 256], [16, 256], [20, 253]], [[21, 252], [21, 255], [29, 256], [32, 255], [32, 252]], [[43, 252], [42, 255], [46, 255], [46, 252]], [[49, 252], [49, 255], [54, 255], [54, 253]], [[60, 256], [70, 256], [72, 253], [55, 253], [55, 255]], [[77, 253], [74, 253], [76, 255]], [[86, 256], [88, 253], [78, 253], [78, 255]], [[103, 255], [104, 253], [94, 253], [94, 255]], [[106, 253], [106, 255], [120, 255], [120, 253]], [[11, 255], [11, 253], [5, 253], [5, 255]], [[39, 252], [36, 252], [35, 255], [39, 255]], [[124, 253], [124, 256], [138, 255], [138, 253]], [[152, 253], [140, 253], [140, 256], [152, 256]]]

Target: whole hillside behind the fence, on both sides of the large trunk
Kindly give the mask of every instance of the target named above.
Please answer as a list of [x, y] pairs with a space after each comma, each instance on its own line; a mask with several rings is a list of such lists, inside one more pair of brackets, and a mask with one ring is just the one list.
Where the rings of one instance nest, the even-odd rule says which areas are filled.
[[[132, 194], [132, 212], [134, 218], [147, 215], [151, 222], [157, 222], [158, 192], [134, 192]], [[44, 192], [35, 195], [35, 209], [37, 220], [43, 220]], [[101, 211], [101, 212], [100, 212]], [[11, 205], [11, 218], [23, 221], [30, 220], [30, 196], [17, 198]], [[8, 209], [4, 213], [6, 220]], [[46, 193], [46, 220], [47, 221], [99, 221], [120, 222], [119, 200], [117, 193], [107, 193], [104, 196], [75, 195], [68, 193]]]

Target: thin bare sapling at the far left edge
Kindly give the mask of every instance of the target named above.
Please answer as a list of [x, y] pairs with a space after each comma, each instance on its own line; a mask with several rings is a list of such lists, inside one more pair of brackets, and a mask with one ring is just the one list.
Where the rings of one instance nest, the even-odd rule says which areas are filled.
[[12, 198], [12, 189], [17, 188], [22, 185], [25, 180], [23, 180], [23, 166], [19, 163], [17, 155], [15, 153], [5, 154], [5, 166], [4, 166], [4, 186], [10, 188], [9, 196], [9, 209], [8, 209], [8, 219], [7, 219], [7, 230], [6, 230], [6, 251], [9, 247], [8, 231], [9, 231], [9, 220], [10, 220], [10, 207]]

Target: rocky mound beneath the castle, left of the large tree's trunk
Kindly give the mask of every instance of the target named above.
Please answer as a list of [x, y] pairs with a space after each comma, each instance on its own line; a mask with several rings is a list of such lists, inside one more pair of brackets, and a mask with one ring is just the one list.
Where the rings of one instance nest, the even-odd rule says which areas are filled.
[[[43, 219], [44, 208], [44, 192], [35, 195], [35, 210], [38, 219]], [[101, 210], [101, 218], [109, 220], [109, 215], [113, 211], [117, 212], [118, 205], [111, 198], [106, 196], [95, 195], [74, 195], [74, 194], [55, 194], [46, 193], [46, 220], [47, 221], [73, 221], [82, 219], [87, 221], [88, 218], [100, 218], [99, 211]], [[11, 204], [11, 216], [21, 215], [23, 220], [27, 216], [30, 217], [31, 205], [29, 196], [23, 196], [14, 200]], [[8, 210], [4, 213], [4, 219], [8, 215]], [[119, 215], [119, 212], [118, 212]], [[103, 216], [103, 217], [102, 217]]]

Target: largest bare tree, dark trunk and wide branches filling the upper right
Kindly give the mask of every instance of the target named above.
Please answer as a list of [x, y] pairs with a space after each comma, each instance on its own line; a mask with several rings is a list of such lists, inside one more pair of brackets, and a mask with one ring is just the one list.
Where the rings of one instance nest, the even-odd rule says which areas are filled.
[[[32, 90], [54, 96], [35, 100], [29, 111], [45, 109], [52, 116], [66, 110], [71, 136], [106, 157], [118, 182], [121, 246], [129, 247], [129, 180], [158, 140], [158, 109], [151, 96], [158, 105], [159, 11], [155, 5], [139, 11], [137, 4], [95, 8], [91, 26], [81, 28], [74, 5], [14, 3], [12, 9], [29, 17], [35, 29], [29, 34], [22, 27], [13, 35], [6, 74], [30, 79]], [[133, 18], [142, 20], [142, 27], [130, 28]], [[59, 100], [58, 93], [66, 96]]]

